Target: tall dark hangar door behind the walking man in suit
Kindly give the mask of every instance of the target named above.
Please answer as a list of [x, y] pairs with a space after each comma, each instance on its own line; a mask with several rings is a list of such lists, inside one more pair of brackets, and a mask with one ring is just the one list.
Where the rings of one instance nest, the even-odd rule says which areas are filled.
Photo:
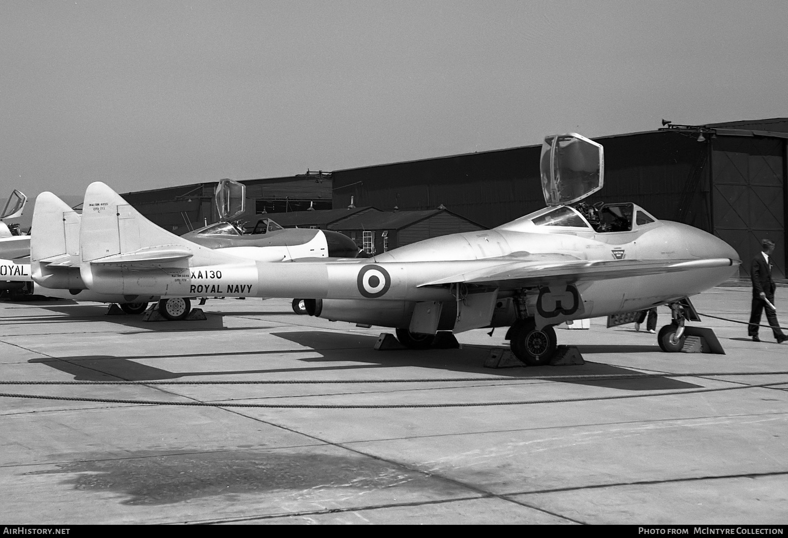
[[773, 138], [712, 141], [714, 231], [742, 257], [739, 276], [749, 276], [764, 238], [777, 244], [772, 275], [786, 276], [784, 147]]

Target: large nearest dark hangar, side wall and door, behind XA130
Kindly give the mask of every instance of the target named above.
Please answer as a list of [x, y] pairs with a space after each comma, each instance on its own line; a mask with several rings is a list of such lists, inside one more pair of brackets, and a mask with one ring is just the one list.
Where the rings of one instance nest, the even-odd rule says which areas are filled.
[[[665, 130], [596, 140], [605, 151], [605, 187], [590, 202], [635, 202], [657, 218], [715, 233], [738, 250], [741, 276], [769, 237], [779, 246], [774, 274], [785, 278], [785, 139], [720, 135], [698, 142], [697, 132]], [[492, 228], [545, 205], [540, 152], [515, 147], [337, 170], [334, 207], [347, 206], [351, 196], [357, 206], [382, 210], [444, 204]]]

